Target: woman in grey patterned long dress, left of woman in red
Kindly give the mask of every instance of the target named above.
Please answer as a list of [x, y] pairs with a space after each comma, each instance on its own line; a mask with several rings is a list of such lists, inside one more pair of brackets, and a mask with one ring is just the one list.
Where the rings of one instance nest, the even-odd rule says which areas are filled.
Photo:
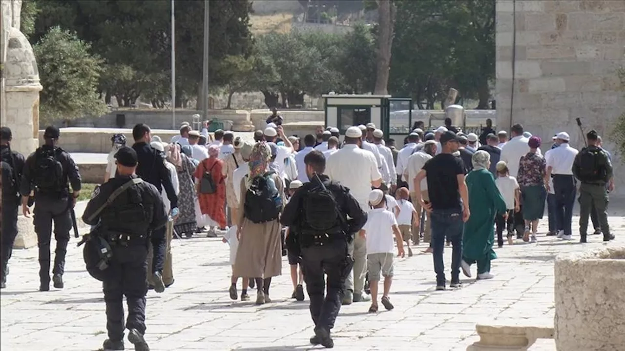
[[174, 229], [180, 235], [185, 234], [186, 237], [191, 237], [196, 230], [194, 202], [197, 194], [193, 186], [193, 173], [196, 170], [196, 166], [189, 157], [181, 153], [180, 144], [169, 145], [167, 161], [176, 166], [180, 185], [180, 194], [178, 195], [178, 209], [180, 212], [174, 222]]

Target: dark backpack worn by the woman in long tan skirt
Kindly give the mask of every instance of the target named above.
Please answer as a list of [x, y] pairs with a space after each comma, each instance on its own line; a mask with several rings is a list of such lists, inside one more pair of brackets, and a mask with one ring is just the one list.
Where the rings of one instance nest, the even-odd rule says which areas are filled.
[[254, 223], [276, 220], [282, 210], [282, 198], [271, 175], [274, 171], [257, 175], [245, 193], [243, 215]]

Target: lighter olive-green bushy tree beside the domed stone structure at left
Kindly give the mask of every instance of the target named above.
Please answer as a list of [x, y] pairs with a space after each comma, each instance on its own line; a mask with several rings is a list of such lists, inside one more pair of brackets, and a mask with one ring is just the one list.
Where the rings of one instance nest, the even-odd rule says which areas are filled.
[[33, 47], [44, 87], [42, 124], [106, 112], [96, 94], [101, 61], [89, 49], [87, 42], [60, 27], [51, 28]]

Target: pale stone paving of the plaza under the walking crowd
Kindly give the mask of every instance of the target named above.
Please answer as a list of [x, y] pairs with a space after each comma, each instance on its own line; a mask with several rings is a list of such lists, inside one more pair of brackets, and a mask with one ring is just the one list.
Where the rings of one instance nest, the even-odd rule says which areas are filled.
[[[333, 330], [334, 349], [464, 351], [478, 339], [476, 322], [514, 324], [529, 320], [552, 326], [554, 255], [625, 245], [625, 220], [612, 216], [611, 225], [617, 239], [609, 244], [604, 244], [600, 235], [590, 235], [589, 244], [584, 245], [544, 234], [539, 234], [537, 244], [517, 240], [516, 245], [497, 249], [499, 259], [492, 269], [495, 279], [463, 279], [459, 290], [434, 291], [431, 255], [397, 259], [391, 290], [395, 309], [368, 314], [368, 303], [343, 307]], [[539, 232], [546, 232], [546, 219]], [[50, 292], [37, 291], [36, 248], [14, 251], [8, 288], [1, 293], [3, 351], [101, 347], [106, 339], [101, 285], [84, 270], [76, 242], [72, 239], [68, 250], [65, 289]], [[423, 245], [415, 251], [421, 249]], [[164, 294], [148, 293], [146, 339], [151, 349], [311, 349], [308, 300], [288, 299], [292, 290], [286, 257], [282, 276], [272, 282], [274, 302], [257, 307], [254, 292], [251, 302], [229, 299], [231, 267], [228, 246], [221, 239], [202, 235], [176, 240], [173, 255], [175, 284]], [[448, 269], [450, 248], [445, 255]], [[126, 348], [131, 346], [126, 341]], [[538, 340], [530, 350], [552, 351], [555, 344], [553, 340]]]

